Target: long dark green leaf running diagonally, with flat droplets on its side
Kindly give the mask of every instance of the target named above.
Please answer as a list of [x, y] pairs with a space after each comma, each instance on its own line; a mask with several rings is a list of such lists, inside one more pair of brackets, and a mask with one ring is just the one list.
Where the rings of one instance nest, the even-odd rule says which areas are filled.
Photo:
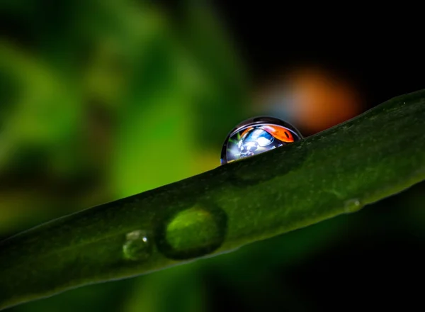
[[219, 255], [358, 211], [425, 178], [424, 120], [425, 90], [298, 143], [4, 240], [0, 307]]

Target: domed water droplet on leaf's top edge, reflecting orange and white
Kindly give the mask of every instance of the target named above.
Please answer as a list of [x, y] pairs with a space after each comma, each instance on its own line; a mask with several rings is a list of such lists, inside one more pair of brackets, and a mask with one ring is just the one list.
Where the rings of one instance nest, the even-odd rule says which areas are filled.
[[255, 117], [230, 131], [222, 147], [221, 164], [254, 156], [302, 139], [297, 128], [274, 117]]

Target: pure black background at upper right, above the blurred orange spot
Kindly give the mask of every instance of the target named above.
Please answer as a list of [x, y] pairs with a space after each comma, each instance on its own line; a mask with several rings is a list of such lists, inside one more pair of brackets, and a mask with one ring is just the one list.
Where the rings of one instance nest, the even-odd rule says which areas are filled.
[[423, 88], [424, 26], [414, 6], [215, 3], [257, 83], [320, 64], [351, 79], [368, 107]]

